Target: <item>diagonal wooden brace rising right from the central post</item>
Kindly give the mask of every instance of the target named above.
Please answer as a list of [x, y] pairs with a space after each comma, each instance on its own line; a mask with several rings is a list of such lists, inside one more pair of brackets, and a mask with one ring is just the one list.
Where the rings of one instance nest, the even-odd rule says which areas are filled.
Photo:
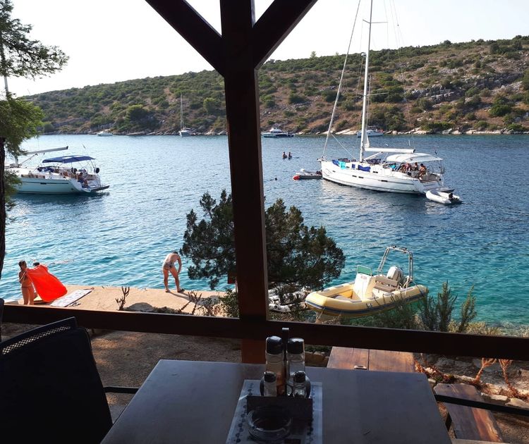
[[[253, 66], [260, 68], [317, 0], [274, 0], [253, 29]], [[223, 27], [224, 34], [224, 27]]]

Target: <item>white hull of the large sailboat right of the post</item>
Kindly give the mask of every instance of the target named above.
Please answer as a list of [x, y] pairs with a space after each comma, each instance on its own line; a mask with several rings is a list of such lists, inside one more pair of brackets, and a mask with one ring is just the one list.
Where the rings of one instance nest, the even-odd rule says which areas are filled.
[[384, 192], [423, 195], [428, 190], [443, 186], [442, 175], [430, 175], [428, 180], [419, 180], [407, 173], [400, 173], [381, 165], [368, 165], [370, 171], [355, 169], [356, 164], [341, 168], [332, 161], [322, 161], [322, 177], [334, 183]]

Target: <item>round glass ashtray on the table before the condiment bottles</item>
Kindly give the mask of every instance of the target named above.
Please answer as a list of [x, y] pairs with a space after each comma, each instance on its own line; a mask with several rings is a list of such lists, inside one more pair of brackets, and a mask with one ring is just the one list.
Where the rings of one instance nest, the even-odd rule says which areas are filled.
[[291, 430], [292, 417], [283, 407], [267, 405], [257, 407], [246, 415], [250, 435], [265, 443], [286, 438]]

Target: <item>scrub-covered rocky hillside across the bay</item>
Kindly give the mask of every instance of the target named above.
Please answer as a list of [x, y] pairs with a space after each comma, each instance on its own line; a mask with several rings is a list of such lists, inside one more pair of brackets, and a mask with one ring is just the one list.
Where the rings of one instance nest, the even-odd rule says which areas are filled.
[[[385, 131], [529, 130], [529, 36], [372, 51], [369, 124]], [[327, 131], [343, 55], [270, 60], [259, 74], [261, 127]], [[334, 121], [357, 130], [363, 57], [349, 56]], [[226, 130], [224, 82], [215, 71], [145, 78], [26, 97], [45, 113], [44, 132], [174, 134]]]

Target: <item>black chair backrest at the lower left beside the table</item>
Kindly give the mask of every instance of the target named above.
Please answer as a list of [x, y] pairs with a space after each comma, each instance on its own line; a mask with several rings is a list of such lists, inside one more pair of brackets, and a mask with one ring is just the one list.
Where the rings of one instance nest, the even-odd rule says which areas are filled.
[[99, 443], [111, 425], [90, 338], [75, 318], [0, 343], [2, 442]]

